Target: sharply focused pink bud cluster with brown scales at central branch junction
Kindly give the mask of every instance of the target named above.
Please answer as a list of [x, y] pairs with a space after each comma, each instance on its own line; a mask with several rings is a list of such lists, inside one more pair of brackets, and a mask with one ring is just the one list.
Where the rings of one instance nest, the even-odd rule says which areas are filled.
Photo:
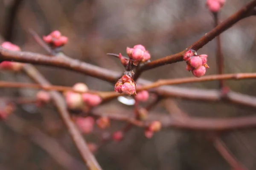
[[116, 82], [115, 91], [129, 96], [136, 95], [136, 83], [128, 74], [125, 74]]

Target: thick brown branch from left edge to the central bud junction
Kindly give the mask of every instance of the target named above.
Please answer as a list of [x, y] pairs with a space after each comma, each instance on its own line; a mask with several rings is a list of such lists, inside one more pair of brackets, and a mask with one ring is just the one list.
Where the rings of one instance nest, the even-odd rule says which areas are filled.
[[120, 74], [117, 74], [115, 71], [110, 71], [105, 68], [99, 69], [99, 67], [87, 64], [86, 62], [63, 56], [49, 57], [32, 52], [10, 51], [0, 47], [0, 59], [65, 68], [112, 83], [116, 83], [117, 79], [120, 77]]

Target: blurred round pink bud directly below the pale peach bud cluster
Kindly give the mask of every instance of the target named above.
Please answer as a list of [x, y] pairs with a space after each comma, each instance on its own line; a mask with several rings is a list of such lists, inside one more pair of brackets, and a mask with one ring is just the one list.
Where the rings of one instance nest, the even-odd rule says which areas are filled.
[[94, 123], [94, 119], [91, 116], [76, 118], [76, 125], [78, 125], [83, 133], [91, 133], [93, 131]]

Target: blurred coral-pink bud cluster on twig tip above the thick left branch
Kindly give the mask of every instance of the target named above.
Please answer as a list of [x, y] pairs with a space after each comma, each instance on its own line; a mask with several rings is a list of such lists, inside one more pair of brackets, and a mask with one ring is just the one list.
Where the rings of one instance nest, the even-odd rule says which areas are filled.
[[60, 31], [52, 31], [49, 35], [43, 36], [43, 40], [52, 47], [61, 47], [68, 42], [68, 38], [61, 35]]

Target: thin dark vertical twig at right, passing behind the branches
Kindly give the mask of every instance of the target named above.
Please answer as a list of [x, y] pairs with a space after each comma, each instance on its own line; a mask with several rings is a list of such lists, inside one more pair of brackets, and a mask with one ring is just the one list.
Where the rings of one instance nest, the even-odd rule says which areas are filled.
[[[218, 12], [213, 12], [213, 17], [214, 17], [214, 26], [218, 26], [219, 24], [219, 17], [218, 17]], [[222, 48], [221, 48], [221, 36], [218, 35], [216, 37], [216, 44], [217, 44], [217, 49], [216, 49], [216, 65], [217, 65], [217, 70], [218, 74], [223, 74], [224, 73], [224, 57], [222, 54]], [[219, 81], [219, 88], [223, 88], [224, 86], [224, 81], [220, 80]]]

